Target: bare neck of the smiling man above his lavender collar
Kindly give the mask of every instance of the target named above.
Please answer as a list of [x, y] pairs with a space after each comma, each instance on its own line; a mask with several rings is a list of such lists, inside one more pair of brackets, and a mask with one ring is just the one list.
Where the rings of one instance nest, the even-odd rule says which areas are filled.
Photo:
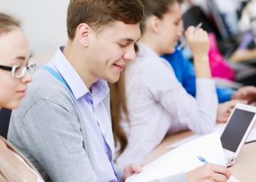
[[[69, 60], [69, 63], [75, 68], [75, 71], [79, 74], [86, 87], [90, 90], [91, 85], [97, 82], [96, 76], [92, 75], [89, 71], [88, 64], [86, 64], [85, 52], [81, 51], [81, 48], [75, 46], [75, 44], [67, 44], [63, 50], [63, 54]], [[84, 56], [84, 57], [83, 57]]]

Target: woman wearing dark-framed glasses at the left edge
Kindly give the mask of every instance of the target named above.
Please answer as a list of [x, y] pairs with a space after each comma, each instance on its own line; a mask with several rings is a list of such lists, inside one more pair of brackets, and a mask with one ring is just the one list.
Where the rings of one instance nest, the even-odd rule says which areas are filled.
[[[30, 55], [29, 43], [18, 20], [0, 13], [0, 109], [17, 108], [25, 97], [35, 68], [34, 64], [29, 64]], [[29, 159], [2, 137], [0, 181], [42, 181]]]

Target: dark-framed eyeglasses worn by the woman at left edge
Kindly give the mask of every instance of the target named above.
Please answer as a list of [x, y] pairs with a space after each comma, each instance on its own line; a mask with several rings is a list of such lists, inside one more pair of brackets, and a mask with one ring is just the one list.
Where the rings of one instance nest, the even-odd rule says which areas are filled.
[[29, 63], [27, 66], [0, 66], [0, 68], [6, 71], [12, 71], [12, 77], [21, 79], [26, 75], [26, 71], [29, 71], [29, 74], [34, 74], [36, 66], [36, 63]]

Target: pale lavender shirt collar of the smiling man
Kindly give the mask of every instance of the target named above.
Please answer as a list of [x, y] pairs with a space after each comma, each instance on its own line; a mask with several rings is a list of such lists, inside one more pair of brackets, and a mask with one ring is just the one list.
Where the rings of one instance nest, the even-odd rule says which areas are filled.
[[75, 99], [78, 100], [84, 95], [87, 95], [86, 97], [83, 97], [87, 100], [90, 98], [88, 95], [91, 95], [94, 103], [97, 104], [101, 102], [109, 93], [108, 83], [103, 79], [99, 79], [97, 82], [92, 84], [90, 92], [90, 90], [86, 87], [86, 84], [80, 78], [78, 72], [75, 71], [75, 68], [69, 63], [69, 60], [67, 60], [63, 54], [63, 50], [64, 47], [59, 47], [50, 62], [67, 82], [70, 89], [72, 90], [73, 95], [75, 96]]

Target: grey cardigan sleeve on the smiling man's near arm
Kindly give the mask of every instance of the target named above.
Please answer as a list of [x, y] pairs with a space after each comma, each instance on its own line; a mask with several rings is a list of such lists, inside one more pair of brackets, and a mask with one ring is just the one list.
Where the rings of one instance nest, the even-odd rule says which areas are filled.
[[20, 130], [26, 150], [52, 181], [97, 181], [72, 108], [39, 100], [26, 111]]

